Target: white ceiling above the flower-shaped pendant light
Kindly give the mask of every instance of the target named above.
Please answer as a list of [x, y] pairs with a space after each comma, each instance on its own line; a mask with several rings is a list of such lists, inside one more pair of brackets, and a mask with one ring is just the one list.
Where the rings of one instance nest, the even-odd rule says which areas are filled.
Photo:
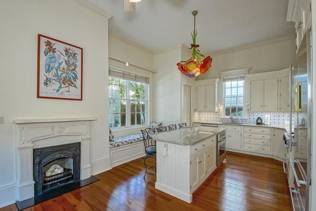
[[191, 45], [193, 10], [203, 54], [295, 35], [288, 0], [142, 0], [132, 12], [123, 11], [124, 0], [89, 1], [112, 15], [110, 33], [153, 52]]

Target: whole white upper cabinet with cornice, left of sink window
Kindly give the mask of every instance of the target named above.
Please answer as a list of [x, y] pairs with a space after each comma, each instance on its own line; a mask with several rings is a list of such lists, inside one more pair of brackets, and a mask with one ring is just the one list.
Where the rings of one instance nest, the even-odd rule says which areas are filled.
[[196, 81], [197, 111], [217, 111], [217, 87], [219, 79]]

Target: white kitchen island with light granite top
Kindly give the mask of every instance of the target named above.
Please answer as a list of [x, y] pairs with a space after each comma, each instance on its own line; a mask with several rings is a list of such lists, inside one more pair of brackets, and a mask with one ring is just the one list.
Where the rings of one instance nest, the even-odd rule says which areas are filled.
[[[190, 132], [191, 131], [191, 132]], [[217, 134], [221, 127], [184, 127], [153, 135], [157, 147], [155, 188], [185, 202], [216, 169]]]

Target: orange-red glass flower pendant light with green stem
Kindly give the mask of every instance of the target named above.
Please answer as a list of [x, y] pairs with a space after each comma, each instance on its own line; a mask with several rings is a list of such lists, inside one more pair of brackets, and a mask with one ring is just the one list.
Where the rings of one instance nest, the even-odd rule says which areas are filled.
[[[211, 67], [212, 58], [210, 56], [206, 56], [203, 61], [199, 59], [199, 56], [204, 57], [203, 54], [200, 53], [200, 51], [197, 49], [199, 47], [198, 44], [196, 44], [197, 40], [197, 30], [196, 30], [196, 15], [197, 10], [194, 10], [192, 12], [192, 15], [194, 16], [194, 30], [193, 33], [191, 33], [193, 43], [191, 44], [191, 47], [189, 49], [192, 49], [192, 56], [187, 61], [181, 61], [177, 63], [178, 69], [181, 71], [182, 74], [193, 78], [198, 76], [201, 73], [205, 73], [208, 71], [208, 68]], [[184, 64], [181, 64], [184, 63]]]

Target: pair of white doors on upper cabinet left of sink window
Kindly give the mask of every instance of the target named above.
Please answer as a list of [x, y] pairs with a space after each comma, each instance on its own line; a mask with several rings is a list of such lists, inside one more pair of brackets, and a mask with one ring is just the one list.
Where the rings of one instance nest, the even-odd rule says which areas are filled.
[[197, 110], [215, 111], [215, 84], [197, 86]]

